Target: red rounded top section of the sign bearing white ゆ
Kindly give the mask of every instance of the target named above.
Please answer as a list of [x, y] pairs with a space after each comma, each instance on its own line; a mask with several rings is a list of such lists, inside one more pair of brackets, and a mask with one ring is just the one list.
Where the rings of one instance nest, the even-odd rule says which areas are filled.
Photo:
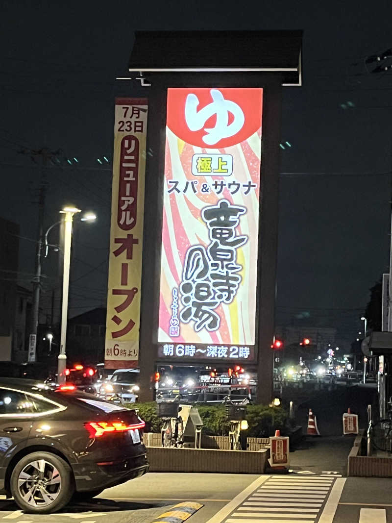
[[[189, 95], [191, 95], [190, 98], [188, 98]], [[213, 140], [209, 137], [209, 133], [212, 132], [211, 129], [214, 129], [217, 124], [215, 107], [216, 111], [220, 110], [217, 104], [214, 104], [213, 95], [215, 98], [224, 99], [223, 106], [227, 107], [227, 116], [224, 111], [223, 118], [227, 118], [227, 126], [230, 126], [237, 118], [236, 115], [241, 112], [243, 117], [239, 116], [239, 125], [243, 123], [240, 129], [236, 130], [235, 134], [223, 137], [217, 142], [210, 144], [206, 143], [206, 140]], [[193, 107], [189, 109], [191, 105], [189, 103], [190, 99], [193, 100]], [[226, 101], [230, 102], [230, 104], [226, 104]], [[186, 118], [186, 105], [188, 105], [189, 124]], [[239, 111], [237, 106], [240, 108]], [[208, 109], [200, 112], [206, 107]], [[231, 112], [230, 109], [233, 109], [235, 113]], [[189, 118], [190, 113], [194, 116], [192, 122]], [[203, 120], [202, 115], [207, 115], [208, 118]], [[167, 127], [181, 140], [191, 145], [203, 147], [203, 149], [221, 149], [244, 142], [260, 129], [261, 115], [262, 89], [259, 88], [170, 88], [167, 92]], [[199, 125], [196, 124], [196, 129], [194, 125], [195, 120], [199, 122]], [[189, 125], [193, 127], [193, 130]], [[239, 125], [233, 126], [233, 128], [239, 127]], [[228, 133], [230, 133], [230, 130]]]

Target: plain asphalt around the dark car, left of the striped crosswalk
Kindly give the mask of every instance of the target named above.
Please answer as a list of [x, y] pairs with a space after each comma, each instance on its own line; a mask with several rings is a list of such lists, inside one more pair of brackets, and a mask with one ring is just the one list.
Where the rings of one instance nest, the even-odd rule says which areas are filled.
[[151, 523], [182, 501], [200, 502], [203, 507], [189, 521], [205, 523], [258, 477], [152, 472], [47, 516], [23, 514], [14, 501], [0, 499], [0, 523]]

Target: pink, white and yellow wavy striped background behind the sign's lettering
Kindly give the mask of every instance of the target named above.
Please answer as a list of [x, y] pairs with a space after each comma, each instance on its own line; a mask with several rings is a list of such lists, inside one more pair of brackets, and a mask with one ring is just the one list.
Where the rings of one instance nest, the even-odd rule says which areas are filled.
[[[168, 107], [168, 111], [170, 108]], [[255, 108], [258, 110], [258, 108]], [[193, 176], [191, 169], [192, 155], [197, 153], [230, 154], [233, 156], [233, 174], [231, 176]], [[180, 140], [166, 128], [165, 150], [165, 184], [164, 211], [162, 230], [162, 258], [160, 271], [159, 294], [159, 343], [187, 343], [214, 345], [254, 345], [256, 322], [256, 290], [257, 290], [257, 254], [258, 254], [258, 223], [259, 223], [259, 191], [261, 162], [261, 127], [247, 140], [224, 149], [204, 149], [190, 145]], [[186, 181], [198, 180], [197, 194], [194, 194], [189, 183], [188, 190], [183, 193]], [[180, 193], [168, 189], [172, 184], [168, 180], [178, 181]], [[236, 181], [241, 188], [236, 194], [230, 194], [226, 187], [217, 195], [212, 189], [215, 180], [223, 180], [224, 184]], [[256, 184], [248, 195], [244, 195], [242, 184], [251, 181]], [[201, 192], [203, 184], [207, 184], [210, 192]], [[234, 190], [232, 187], [231, 190]], [[247, 235], [247, 243], [236, 249], [237, 263], [243, 266], [238, 272], [241, 282], [237, 294], [230, 304], [220, 304], [215, 312], [221, 317], [217, 331], [209, 332], [205, 328], [195, 332], [194, 322], [180, 322], [180, 336], [169, 336], [171, 317], [172, 289], [179, 289], [182, 279], [183, 264], [187, 249], [191, 245], [210, 244], [209, 231], [201, 218], [204, 207], [216, 205], [218, 200], [226, 200], [246, 207], [247, 212], [241, 215], [236, 235]], [[179, 292], [179, 312], [182, 309]]]

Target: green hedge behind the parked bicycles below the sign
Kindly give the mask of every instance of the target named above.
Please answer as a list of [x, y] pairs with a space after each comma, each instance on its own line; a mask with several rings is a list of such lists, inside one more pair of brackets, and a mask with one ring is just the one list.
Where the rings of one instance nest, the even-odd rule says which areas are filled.
[[[146, 422], [145, 432], [160, 432], [162, 420], [156, 415], [156, 403], [134, 403], [127, 405], [137, 408], [139, 415]], [[224, 405], [197, 405], [203, 420], [203, 434], [209, 436], [227, 436], [230, 423], [225, 416]], [[287, 412], [282, 407], [269, 407], [266, 405], [247, 405], [248, 436], [268, 437], [273, 436], [276, 429], [284, 429], [287, 421]]]

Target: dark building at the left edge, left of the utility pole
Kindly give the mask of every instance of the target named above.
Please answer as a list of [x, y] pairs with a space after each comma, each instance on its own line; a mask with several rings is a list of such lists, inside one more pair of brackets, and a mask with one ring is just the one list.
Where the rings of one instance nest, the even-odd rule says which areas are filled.
[[0, 361], [12, 358], [19, 255], [19, 225], [0, 218]]

